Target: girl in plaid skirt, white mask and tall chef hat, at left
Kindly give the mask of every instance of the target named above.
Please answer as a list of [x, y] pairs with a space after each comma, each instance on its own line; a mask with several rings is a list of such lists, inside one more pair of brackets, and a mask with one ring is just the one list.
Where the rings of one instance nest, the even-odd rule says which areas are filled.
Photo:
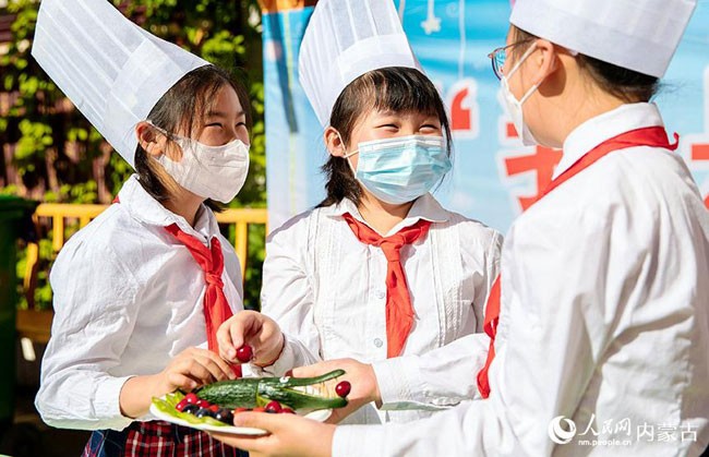
[[44, 0], [33, 56], [136, 170], [53, 265], [37, 409], [52, 426], [94, 431], [87, 455], [231, 456], [148, 408], [240, 375], [215, 352], [243, 292], [211, 206], [229, 202], [249, 169], [247, 93], [105, 0]]

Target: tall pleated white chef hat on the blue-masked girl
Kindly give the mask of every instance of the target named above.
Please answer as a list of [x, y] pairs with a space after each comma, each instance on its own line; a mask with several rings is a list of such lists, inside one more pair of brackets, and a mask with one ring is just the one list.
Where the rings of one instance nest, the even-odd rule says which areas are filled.
[[320, 0], [300, 46], [300, 84], [321, 124], [329, 125], [343, 89], [368, 71], [408, 67], [423, 72], [393, 0]]

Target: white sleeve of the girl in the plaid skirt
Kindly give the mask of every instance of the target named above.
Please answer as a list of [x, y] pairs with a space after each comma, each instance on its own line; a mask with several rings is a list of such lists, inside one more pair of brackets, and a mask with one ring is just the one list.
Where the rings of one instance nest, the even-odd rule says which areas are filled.
[[121, 414], [119, 396], [130, 376], [109, 373], [120, 361], [139, 311], [132, 274], [109, 248], [76, 242], [64, 246], [50, 281], [55, 318], [37, 410], [51, 426], [124, 429], [133, 419]]

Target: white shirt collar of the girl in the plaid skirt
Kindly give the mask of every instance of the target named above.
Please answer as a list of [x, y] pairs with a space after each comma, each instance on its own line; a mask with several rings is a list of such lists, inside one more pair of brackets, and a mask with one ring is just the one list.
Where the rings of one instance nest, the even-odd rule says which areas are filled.
[[204, 204], [200, 206], [194, 227], [171, 211], [167, 209], [157, 200], [153, 199], [145, 189], [137, 182], [137, 175], [133, 175], [125, 181], [118, 193], [121, 207], [136, 220], [144, 224], [167, 227], [177, 224], [180, 230], [196, 237], [200, 241], [207, 244], [207, 240], [219, 232], [217, 219]]

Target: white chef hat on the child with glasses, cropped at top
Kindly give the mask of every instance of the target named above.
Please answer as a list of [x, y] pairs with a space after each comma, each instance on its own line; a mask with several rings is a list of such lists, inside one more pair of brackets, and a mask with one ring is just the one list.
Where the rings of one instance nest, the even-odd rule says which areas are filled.
[[509, 22], [541, 38], [662, 77], [696, 0], [517, 0]]

